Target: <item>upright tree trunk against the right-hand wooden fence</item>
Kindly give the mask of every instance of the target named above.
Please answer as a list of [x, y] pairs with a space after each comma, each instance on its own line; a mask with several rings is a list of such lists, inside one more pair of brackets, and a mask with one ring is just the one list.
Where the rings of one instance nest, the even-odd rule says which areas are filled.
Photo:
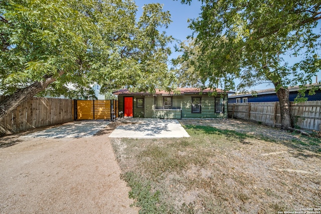
[[292, 127], [291, 112], [290, 112], [290, 100], [289, 100], [289, 90], [286, 88], [280, 88], [276, 92], [280, 103], [281, 112], [281, 128], [286, 130], [288, 127]]

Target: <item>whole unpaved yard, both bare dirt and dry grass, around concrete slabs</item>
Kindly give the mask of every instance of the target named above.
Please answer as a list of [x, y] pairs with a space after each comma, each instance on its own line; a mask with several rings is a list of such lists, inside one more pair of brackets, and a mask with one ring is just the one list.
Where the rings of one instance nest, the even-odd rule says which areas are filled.
[[0, 137], [0, 213], [321, 212], [319, 138], [180, 122], [190, 138], [108, 139], [121, 120], [93, 137]]

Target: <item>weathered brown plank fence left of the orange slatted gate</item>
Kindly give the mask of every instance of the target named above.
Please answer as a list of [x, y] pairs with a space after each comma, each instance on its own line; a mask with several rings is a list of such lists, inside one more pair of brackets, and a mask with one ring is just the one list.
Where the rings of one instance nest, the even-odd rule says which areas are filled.
[[73, 119], [73, 100], [33, 97], [0, 120], [0, 134], [66, 123]]

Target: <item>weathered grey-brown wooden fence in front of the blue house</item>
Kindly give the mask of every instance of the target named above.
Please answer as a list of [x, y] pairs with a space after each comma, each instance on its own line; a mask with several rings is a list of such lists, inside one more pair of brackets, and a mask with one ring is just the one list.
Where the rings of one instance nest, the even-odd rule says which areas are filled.
[[[321, 101], [290, 103], [294, 125], [303, 129], [320, 130]], [[273, 127], [281, 127], [279, 102], [229, 103], [228, 114], [231, 118], [261, 122]]]

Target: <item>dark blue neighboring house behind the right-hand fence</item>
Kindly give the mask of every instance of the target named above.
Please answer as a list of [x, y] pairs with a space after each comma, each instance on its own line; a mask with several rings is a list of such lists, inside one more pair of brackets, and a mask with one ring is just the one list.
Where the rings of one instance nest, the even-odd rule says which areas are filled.
[[[315, 86], [320, 86], [319, 84], [313, 84]], [[294, 101], [294, 98], [297, 96], [297, 91], [299, 90], [298, 86], [289, 88], [290, 101]], [[314, 95], [308, 95], [308, 92], [305, 93], [305, 97], [308, 101], [315, 101], [315, 100], [321, 100], [321, 89], [318, 89], [315, 91]], [[230, 95], [228, 98], [229, 103], [256, 103], [256, 102], [278, 102], [279, 99], [276, 96], [275, 89], [270, 88], [266, 90], [257, 91], [255, 95], [252, 95], [251, 93], [247, 94], [233, 94]]]

